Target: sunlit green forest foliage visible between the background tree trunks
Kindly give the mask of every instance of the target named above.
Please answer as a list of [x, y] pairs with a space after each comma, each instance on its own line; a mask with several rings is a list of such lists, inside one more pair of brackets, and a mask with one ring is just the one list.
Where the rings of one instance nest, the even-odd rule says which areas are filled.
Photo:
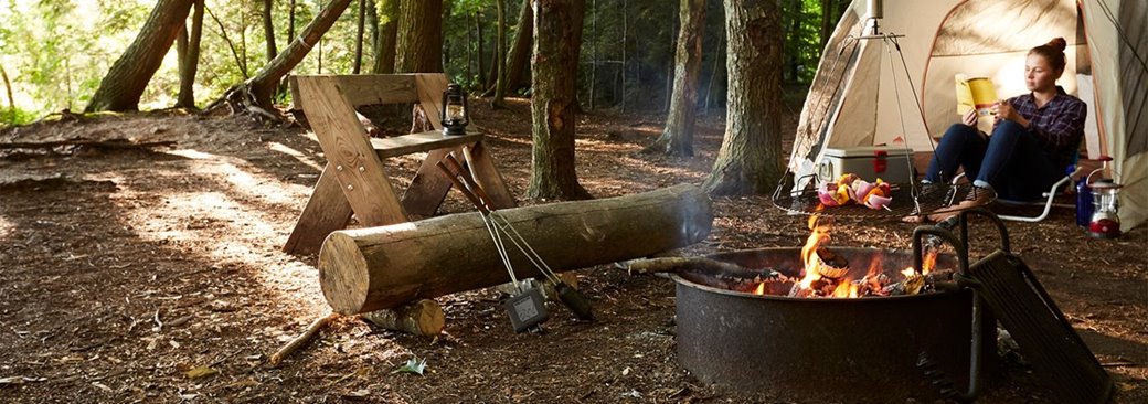
[[[352, 1], [293, 73], [389, 72], [380, 59], [394, 2]], [[199, 108], [250, 78], [286, 47], [324, 1], [204, 1], [205, 16], [195, 77]], [[804, 96], [823, 46], [845, 0], [783, 0], [783, 80], [786, 95]], [[0, 6], [0, 127], [34, 122], [61, 110], [78, 111], [91, 101], [111, 64], [135, 38], [155, 1], [6, 0]], [[364, 13], [357, 13], [362, 7]], [[522, 1], [506, 0], [505, 24], [513, 39]], [[698, 103], [703, 110], [726, 102], [724, 22], [720, 0], [708, 0], [703, 36]], [[577, 71], [582, 108], [664, 112], [672, 90], [678, 32], [677, 3], [664, 0], [589, 0]], [[363, 26], [359, 29], [359, 20]], [[443, 1], [444, 72], [481, 94], [494, 84], [496, 0]], [[270, 28], [270, 29], [269, 29]], [[393, 30], [390, 31], [393, 32]], [[393, 34], [393, 33], [391, 33]], [[393, 45], [391, 45], [393, 46]], [[360, 48], [360, 52], [356, 52]], [[281, 49], [281, 48], [280, 48]], [[527, 68], [528, 69], [528, 68]], [[528, 72], [527, 72], [528, 75]], [[527, 94], [529, 77], [511, 85]], [[179, 93], [177, 46], [166, 53], [148, 83], [139, 108], [176, 106]], [[276, 102], [289, 101], [279, 92]]]

